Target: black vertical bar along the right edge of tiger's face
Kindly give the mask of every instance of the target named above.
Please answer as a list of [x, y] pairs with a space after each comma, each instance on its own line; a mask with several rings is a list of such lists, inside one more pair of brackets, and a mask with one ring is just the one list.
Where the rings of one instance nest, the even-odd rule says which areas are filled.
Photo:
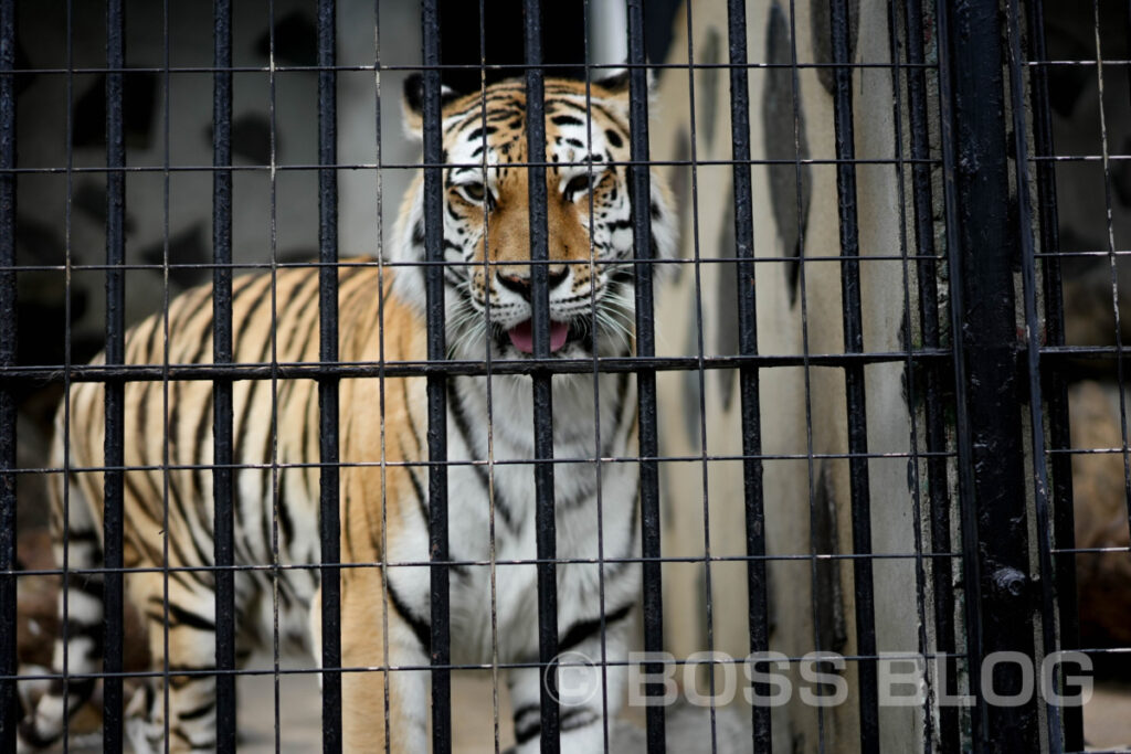
[[[636, 253], [636, 338], [637, 355], [654, 356], [656, 332], [653, 321], [651, 259], [651, 174], [648, 165], [648, 73], [644, 44], [644, 0], [627, 0], [629, 34], [629, 140], [631, 166], [629, 191], [632, 200], [632, 240]], [[659, 547], [659, 465], [658, 432], [656, 426], [656, 372], [641, 366], [637, 370], [637, 400], [640, 430], [640, 553], [644, 579], [644, 649], [661, 652], [664, 649], [664, 600]], [[648, 665], [648, 674], [661, 668]], [[648, 696], [663, 696], [661, 683], [649, 683]], [[648, 751], [658, 754], [666, 749], [664, 708], [648, 707]]]

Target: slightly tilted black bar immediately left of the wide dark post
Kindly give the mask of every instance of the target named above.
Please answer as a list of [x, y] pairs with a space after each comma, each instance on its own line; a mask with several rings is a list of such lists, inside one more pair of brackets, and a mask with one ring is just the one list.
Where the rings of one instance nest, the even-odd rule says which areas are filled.
[[[920, 260], [916, 265], [918, 281], [918, 321], [923, 345], [938, 348], [940, 345], [939, 327], [939, 285], [938, 265], [934, 261], [936, 249], [934, 243], [934, 207], [931, 188], [931, 168], [924, 162], [931, 156], [930, 125], [927, 112], [926, 71], [922, 68], [924, 53], [923, 0], [907, 0], [904, 6], [906, 35], [907, 92], [912, 156], [912, 190], [915, 213], [915, 252]], [[931, 364], [916, 359], [923, 369], [924, 414], [926, 452], [927, 495], [930, 499], [931, 548], [934, 552], [950, 552], [950, 483], [947, 473], [947, 459], [934, 456], [947, 449], [947, 424], [942, 391], [944, 374]], [[913, 405], [914, 410], [914, 405]], [[953, 575], [949, 563], [935, 563], [931, 569], [931, 583], [934, 601], [935, 645], [940, 652], [955, 652], [955, 608]], [[943, 683], [941, 694], [957, 693], [952, 684], [958, 678], [957, 667], [949, 657], [944, 660]], [[958, 751], [959, 728], [958, 710], [950, 704], [939, 708], [939, 748], [943, 752]]]

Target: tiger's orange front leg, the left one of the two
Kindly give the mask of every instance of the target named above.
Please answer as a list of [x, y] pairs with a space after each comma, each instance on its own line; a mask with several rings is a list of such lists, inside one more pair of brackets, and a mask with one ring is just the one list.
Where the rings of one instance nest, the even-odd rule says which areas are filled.
[[[342, 737], [346, 752], [395, 754], [428, 751], [428, 673], [402, 670], [428, 665], [412, 627], [387, 604], [388, 655], [378, 569], [346, 569], [342, 575], [342, 666], [391, 668], [342, 674]], [[313, 651], [321, 657], [321, 589], [311, 605]], [[388, 727], [387, 727], [388, 726]]]

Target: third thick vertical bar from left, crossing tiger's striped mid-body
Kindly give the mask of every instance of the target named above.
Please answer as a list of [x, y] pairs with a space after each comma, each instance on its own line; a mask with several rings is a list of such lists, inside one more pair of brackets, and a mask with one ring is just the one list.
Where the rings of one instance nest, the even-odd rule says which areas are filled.
[[[213, 362], [232, 363], [232, 5], [213, 5]], [[235, 752], [235, 514], [232, 381], [213, 384], [213, 504], [216, 562], [216, 748]]]

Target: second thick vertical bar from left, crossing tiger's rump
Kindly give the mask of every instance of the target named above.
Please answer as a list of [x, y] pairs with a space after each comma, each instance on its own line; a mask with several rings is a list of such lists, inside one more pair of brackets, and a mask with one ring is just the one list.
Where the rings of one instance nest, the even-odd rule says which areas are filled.
[[[123, 0], [106, 0], [106, 364], [126, 356], [126, 138], [122, 89], [126, 66]], [[122, 671], [122, 484], [124, 460], [124, 392], [121, 378], [106, 381], [104, 444], [103, 553], [105, 558], [105, 633], [103, 669]], [[103, 679], [103, 749], [122, 746], [122, 678]]]

